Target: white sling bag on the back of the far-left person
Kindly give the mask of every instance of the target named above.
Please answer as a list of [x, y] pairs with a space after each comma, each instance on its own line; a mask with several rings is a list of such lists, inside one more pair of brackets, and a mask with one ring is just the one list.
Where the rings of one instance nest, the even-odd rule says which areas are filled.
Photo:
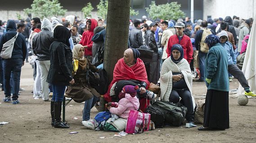
[[17, 37], [18, 37], [18, 32], [13, 38], [11, 38], [9, 41], [7, 41], [3, 44], [3, 48], [2, 48], [1, 54], [0, 54], [0, 56], [3, 59], [12, 58], [13, 46], [14, 46], [14, 42], [16, 41]]

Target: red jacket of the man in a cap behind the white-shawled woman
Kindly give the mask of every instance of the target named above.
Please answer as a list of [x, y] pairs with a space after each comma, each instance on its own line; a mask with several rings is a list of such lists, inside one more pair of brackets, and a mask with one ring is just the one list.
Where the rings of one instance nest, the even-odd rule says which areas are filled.
[[176, 35], [176, 34], [172, 35], [169, 38], [167, 49], [166, 49], [167, 57], [170, 57], [171, 47], [174, 44], [180, 44], [183, 47], [184, 59], [186, 59], [190, 63], [191, 60], [193, 59], [193, 46], [192, 46], [189, 36], [184, 34], [182, 39], [179, 42], [178, 35]]

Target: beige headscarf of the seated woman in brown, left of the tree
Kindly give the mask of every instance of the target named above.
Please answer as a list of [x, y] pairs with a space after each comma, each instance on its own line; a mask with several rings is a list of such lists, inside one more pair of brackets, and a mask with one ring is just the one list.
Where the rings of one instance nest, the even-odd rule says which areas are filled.
[[78, 59], [78, 65], [81, 66], [82, 69], [84, 69], [86, 67], [87, 60], [84, 56], [83, 57], [78, 56], [78, 53], [81, 47], [84, 48], [81, 44], [76, 44], [72, 50], [72, 53], [73, 53], [73, 58]]

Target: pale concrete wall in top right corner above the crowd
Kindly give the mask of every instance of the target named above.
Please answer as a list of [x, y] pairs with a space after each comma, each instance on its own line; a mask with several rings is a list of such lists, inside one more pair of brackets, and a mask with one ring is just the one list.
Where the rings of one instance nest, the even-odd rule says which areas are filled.
[[203, 19], [207, 16], [225, 18], [237, 16], [248, 19], [256, 15], [256, 0], [203, 0]]

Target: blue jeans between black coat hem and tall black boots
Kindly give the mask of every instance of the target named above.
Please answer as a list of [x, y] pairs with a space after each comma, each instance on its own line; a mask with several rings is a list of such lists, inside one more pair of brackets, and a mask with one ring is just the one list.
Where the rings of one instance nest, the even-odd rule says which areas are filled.
[[53, 97], [51, 101], [60, 102], [63, 101], [66, 86], [51, 84], [53, 87]]

